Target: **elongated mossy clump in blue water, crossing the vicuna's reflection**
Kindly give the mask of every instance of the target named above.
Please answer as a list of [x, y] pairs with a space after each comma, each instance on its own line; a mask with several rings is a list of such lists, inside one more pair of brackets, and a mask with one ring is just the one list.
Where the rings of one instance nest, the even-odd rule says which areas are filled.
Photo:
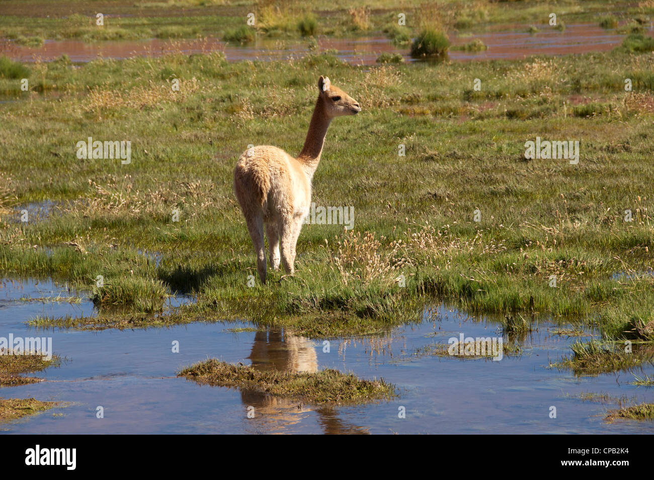
[[327, 369], [316, 373], [259, 371], [247, 365], [233, 365], [215, 358], [201, 361], [182, 370], [199, 384], [235, 386], [241, 390], [262, 392], [309, 403], [362, 403], [396, 396], [395, 386], [379, 380], [361, 380], [353, 374]]

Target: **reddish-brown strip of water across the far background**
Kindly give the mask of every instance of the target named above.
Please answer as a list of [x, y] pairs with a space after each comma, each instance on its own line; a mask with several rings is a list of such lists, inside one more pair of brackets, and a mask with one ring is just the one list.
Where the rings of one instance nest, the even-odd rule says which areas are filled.
[[[624, 35], [615, 30], [602, 29], [595, 24], [570, 25], [565, 31], [557, 31], [541, 26], [536, 35], [526, 32], [524, 25], [495, 26], [484, 32], [469, 36], [451, 35], [453, 46], [463, 45], [473, 39], [481, 39], [489, 48], [483, 52], [464, 52], [451, 50], [452, 60], [488, 60], [521, 59], [535, 54], [564, 55], [583, 52], [601, 52], [611, 50], [619, 45]], [[654, 36], [654, 29], [649, 28], [648, 35]], [[382, 52], [398, 52], [407, 60], [408, 46], [392, 45], [385, 37], [361, 37], [356, 39], [319, 39], [320, 50], [336, 49], [338, 56], [351, 64], [374, 64]], [[230, 62], [239, 60], [279, 60], [301, 56], [309, 52], [306, 41], [258, 41], [254, 45], [229, 45], [216, 39], [203, 41], [182, 40], [165, 41], [150, 39], [141, 41], [115, 41], [101, 43], [84, 43], [81, 41], [46, 41], [43, 46], [5, 45], [4, 53], [23, 62], [53, 60], [61, 54], [67, 54], [73, 62], [89, 62], [98, 57], [128, 58], [131, 56], [160, 56], [170, 53], [200, 53], [222, 51]]]

